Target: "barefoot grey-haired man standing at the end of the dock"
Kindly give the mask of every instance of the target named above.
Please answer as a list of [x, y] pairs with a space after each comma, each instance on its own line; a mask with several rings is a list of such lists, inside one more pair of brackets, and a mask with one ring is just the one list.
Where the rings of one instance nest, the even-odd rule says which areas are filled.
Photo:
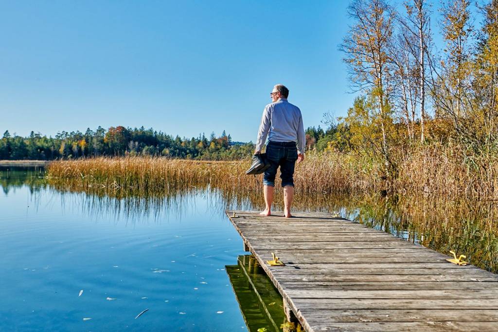
[[[262, 216], [271, 215], [275, 175], [280, 166], [280, 178], [284, 193], [284, 216], [292, 217], [290, 207], [294, 196], [294, 166], [304, 160], [305, 135], [303, 117], [297, 106], [287, 101], [289, 89], [281, 84], [275, 85], [270, 97], [273, 103], [266, 105], [257, 132], [256, 149], [254, 154], [260, 153], [268, 136], [266, 157], [270, 167], [264, 172], [264, 202], [266, 208], [260, 213]], [[296, 147], [297, 142], [297, 147]]]

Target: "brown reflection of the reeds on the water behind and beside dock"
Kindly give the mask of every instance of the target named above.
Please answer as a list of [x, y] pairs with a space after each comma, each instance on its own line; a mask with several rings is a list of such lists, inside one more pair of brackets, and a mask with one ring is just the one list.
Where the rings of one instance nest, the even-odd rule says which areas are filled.
[[[26, 172], [25, 168], [21, 172]], [[27, 177], [15, 171], [0, 172], [4, 193], [12, 188], [28, 185], [32, 193], [48, 186], [64, 193], [83, 193], [67, 201], [80, 206], [88, 214], [113, 213], [121, 219], [136, 221], [141, 217], [165, 218], [159, 211], [169, 210], [176, 216], [192, 209], [195, 197], [208, 202], [208, 213], [223, 216], [226, 209], [257, 210], [264, 206], [261, 192], [240, 188], [221, 190], [209, 185], [168, 188], [143, 196], [133, 188], [81, 188], [77, 182], [57, 182], [43, 179], [38, 168]], [[281, 193], [275, 196], [274, 210], [282, 210]], [[380, 195], [297, 195], [296, 211], [325, 211], [340, 213], [351, 220], [382, 229], [406, 240], [421, 243], [445, 254], [450, 250], [463, 253], [472, 264], [498, 272], [498, 205], [496, 202], [450, 201], [445, 198], [382, 197]]]

